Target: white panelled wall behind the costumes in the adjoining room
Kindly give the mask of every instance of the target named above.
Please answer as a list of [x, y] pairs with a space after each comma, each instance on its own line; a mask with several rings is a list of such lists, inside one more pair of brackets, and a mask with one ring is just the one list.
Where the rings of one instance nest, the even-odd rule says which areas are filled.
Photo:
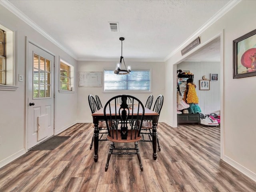
[[210, 90], [200, 90], [199, 80], [202, 76], [210, 80], [210, 73], [218, 74], [220, 79], [220, 62], [181, 62], [177, 69], [189, 70], [194, 74], [194, 84], [196, 84], [196, 93], [199, 99], [199, 106], [202, 114], [220, 112], [220, 80], [210, 81]]

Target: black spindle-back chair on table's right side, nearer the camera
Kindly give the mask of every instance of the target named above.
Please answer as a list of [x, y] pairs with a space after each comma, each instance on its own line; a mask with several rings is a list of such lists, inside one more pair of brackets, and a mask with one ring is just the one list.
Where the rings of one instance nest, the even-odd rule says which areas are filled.
[[[164, 96], [159, 95], [156, 98], [154, 108], [153, 108], [153, 111], [158, 113], [159, 116], [160, 116], [160, 112], [162, 110], [163, 103], [164, 103]], [[158, 116], [158, 119], [157, 119], [156, 126], [158, 124], [159, 116]], [[151, 130], [152, 130], [152, 122], [151, 121], [143, 121], [142, 122], [142, 128], [141, 128], [142, 139], [140, 141], [142, 141], [142, 142], [152, 142], [152, 131]], [[145, 138], [146, 135], [148, 136], [148, 139]], [[158, 150], [161, 151], [158, 136], [157, 136], [157, 145], [158, 145]]]

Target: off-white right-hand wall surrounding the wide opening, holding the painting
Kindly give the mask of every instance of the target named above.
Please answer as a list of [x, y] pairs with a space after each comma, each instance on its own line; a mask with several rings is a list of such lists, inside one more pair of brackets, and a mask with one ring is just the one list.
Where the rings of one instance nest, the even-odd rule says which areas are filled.
[[[166, 61], [166, 68], [173, 68], [173, 65], [221, 34], [221, 158], [254, 181], [256, 128], [253, 120], [256, 104], [251, 101], [256, 95], [256, 76], [233, 79], [233, 40], [255, 29], [255, 25], [250, 22], [256, 17], [255, 6], [256, 1], [240, 1], [222, 18], [191, 38], [193, 40], [199, 36], [201, 43], [191, 53], [182, 57], [182, 47]], [[173, 79], [175, 80], [176, 78]], [[166, 82], [168, 81], [166, 76]], [[174, 88], [166, 86], [166, 97], [174, 96], [176, 93], [173, 90]], [[172, 114], [166, 116], [170, 117]]]

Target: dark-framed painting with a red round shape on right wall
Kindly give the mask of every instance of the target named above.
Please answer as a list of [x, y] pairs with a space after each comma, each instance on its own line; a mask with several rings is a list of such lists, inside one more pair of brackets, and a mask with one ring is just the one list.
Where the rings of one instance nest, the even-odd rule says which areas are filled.
[[256, 29], [233, 40], [233, 79], [256, 75]]

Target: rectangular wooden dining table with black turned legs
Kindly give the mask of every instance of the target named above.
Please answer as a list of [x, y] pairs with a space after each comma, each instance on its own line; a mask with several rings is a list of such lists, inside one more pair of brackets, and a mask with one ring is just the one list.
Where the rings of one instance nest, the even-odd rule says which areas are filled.
[[[111, 110], [112, 116], [115, 116], [114, 112], [115, 110]], [[110, 115], [109, 109], [106, 109], [106, 114]], [[141, 115], [139, 113], [139, 115]], [[159, 114], [145, 108], [145, 113], [144, 113], [144, 119], [143, 120], [151, 120], [152, 121], [152, 147], [153, 147], [153, 159], [156, 160], [157, 154], [156, 154], [156, 143], [157, 143], [157, 127], [156, 124], [158, 122], [158, 116]], [[95, 113], [92, 114], [93, 118], [93, 123], [94, 123], [94, 162], [98, 161], [99, 155], [98, 155], [98, 146], [99, 146], [99, 128], [98, 128], [98, 123], [99, 121], [105, 121], [104, 117], [104, 108], [101, 108], [100, 110], [96, 111]]]

